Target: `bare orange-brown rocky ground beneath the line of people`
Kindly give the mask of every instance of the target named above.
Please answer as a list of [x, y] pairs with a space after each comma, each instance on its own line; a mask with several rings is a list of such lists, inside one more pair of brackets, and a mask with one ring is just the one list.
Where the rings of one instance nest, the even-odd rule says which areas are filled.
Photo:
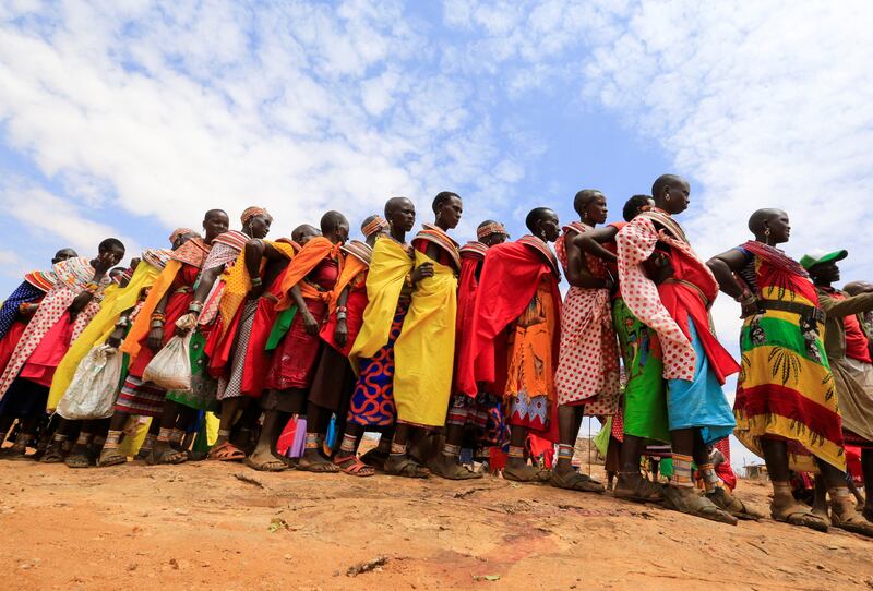
[[[741, 481], [761, 509], [768, 486]], [[2, 589], [871, 589], [873, 541], [608, 495], [0, 461]]]

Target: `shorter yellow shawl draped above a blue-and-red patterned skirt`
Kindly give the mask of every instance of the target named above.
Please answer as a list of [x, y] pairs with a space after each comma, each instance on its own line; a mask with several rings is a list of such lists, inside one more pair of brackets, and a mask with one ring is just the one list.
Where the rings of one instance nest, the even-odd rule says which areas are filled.
[[412, 260], [397, 242], [382, 238], [375, 243], [367, 275], [369, 302], [363, 311], [363, 325], [348, 355], [356, 373], [359, 359], [369, 359], [387, 345], [397, 301], [411, 270]]

